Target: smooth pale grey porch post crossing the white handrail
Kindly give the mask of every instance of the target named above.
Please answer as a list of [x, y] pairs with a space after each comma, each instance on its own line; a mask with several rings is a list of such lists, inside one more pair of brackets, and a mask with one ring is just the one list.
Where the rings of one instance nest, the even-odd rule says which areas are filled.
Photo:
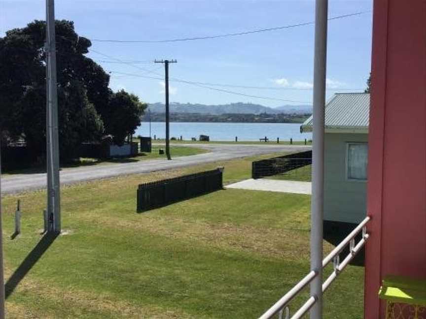
[[312, 134], [312, 197], [311, 197], [311, 271], [318, 276], [311, 282], [311, 296], [317, 302], [310, 310], [311, 319], [322, 318], [322, 221], [324, 198], [324, 108], [327, 64], [328, 0], [315, 4], [314, 56], [314, 128]]

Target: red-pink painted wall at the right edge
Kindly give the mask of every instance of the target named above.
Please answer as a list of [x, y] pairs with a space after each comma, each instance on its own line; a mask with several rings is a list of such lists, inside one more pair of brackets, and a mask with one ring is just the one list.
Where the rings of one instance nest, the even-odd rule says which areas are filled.
[[374, 0], [368, 142], [364, 309], [377, 319], [384, 276], [426, 278], [426, 0]]

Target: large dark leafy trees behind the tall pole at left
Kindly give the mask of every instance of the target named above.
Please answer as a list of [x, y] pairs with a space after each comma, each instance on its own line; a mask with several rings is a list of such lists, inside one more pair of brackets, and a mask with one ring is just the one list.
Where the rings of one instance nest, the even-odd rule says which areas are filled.
[[[36, 155], [45, 152], [45, 21], [34, 21], [0, 38], [0, 132], [23, 136]], [[109, 75], [86, 57], [91, 42], [72, 21], [56, 21], [58, 121], [61, 157], [103, 134], [121, 144], [140, 125], [146, 105], [137, 96], [109, 89]]]

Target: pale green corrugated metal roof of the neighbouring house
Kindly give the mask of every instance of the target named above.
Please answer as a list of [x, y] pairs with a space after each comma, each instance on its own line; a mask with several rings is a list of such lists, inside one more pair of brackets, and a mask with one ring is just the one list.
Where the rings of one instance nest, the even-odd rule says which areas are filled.
[[[338, 93], [325, 105], [326, 131], [367, 132], [370, 115], [369, 93]], [[312, 116], [300, 131], [312, 132]]]

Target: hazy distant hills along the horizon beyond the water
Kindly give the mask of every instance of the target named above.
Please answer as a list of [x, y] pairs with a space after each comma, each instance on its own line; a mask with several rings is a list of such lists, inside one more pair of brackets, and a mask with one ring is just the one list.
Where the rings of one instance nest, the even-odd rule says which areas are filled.
[[[153, 113], [164, 113], [164, 103], [148, 104], [148, 109]], [[206, 105], [192, 103], [171, 103], [171, 113], [200, 113], [211, 115], [222, 114], [306, 114], [312, 112], [310, 105], [283, 105], [277, 108], [267, 107], [253, 103], [231, 103], [221, 105]]]

